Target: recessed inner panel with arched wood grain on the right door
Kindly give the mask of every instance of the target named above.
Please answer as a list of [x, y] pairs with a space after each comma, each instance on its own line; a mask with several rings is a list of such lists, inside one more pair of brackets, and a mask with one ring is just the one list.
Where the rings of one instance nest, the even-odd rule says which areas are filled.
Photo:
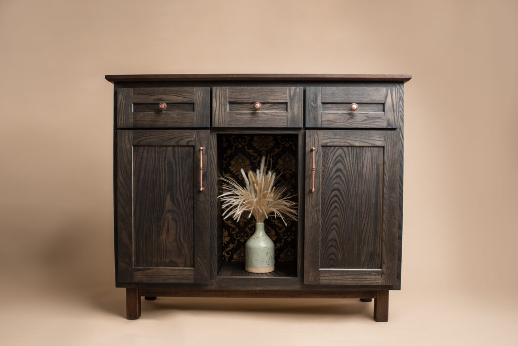
[[322, 147], [321, 268], [380, 268], [383, 148]]

